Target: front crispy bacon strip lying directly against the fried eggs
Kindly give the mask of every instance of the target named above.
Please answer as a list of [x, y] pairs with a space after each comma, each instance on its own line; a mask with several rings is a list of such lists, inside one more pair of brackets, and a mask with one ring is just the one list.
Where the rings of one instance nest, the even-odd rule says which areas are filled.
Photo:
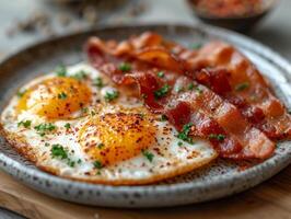
[[[190, 131], [191, 136], [199, 136], [205, 139], [209, 139], [210, 134], [225, 136], [222, 140], [210, 139], [221, 157], [266, 159], [272, 154], [275, 143], [264, 132], [251, 126], [233, 104], [224, 102], [203, 85], [195, 83], [199, 92], [195, 90], [175, 93], [172, 89], [171, 94], [161, 100], [155, 100], [154, 92], [165, 84], [175, 88], [181, 81], [193, 82], [190, 78], [183, 76], [185, 64], [176, 59], [174, 55], [168, 56], [164, 48], [159, 48], [161, 42], [156, 42], [158, 45], [154, 44], [154, 48], [151, 50], [147, 48], [146, 44], [135, 44], [132, 42], [123, 42], [123, 46], [116, 44], [114, 48], [114, 46], [109, 47], [95, 38], [89, 42], [88, 54], [91, 64], [109, 76], [115, 83], [121, 85], [138, 84], [140, 95], [146, 96], [146, 105], [153, 112], [166, 114], [170, 122], [178, 130], [183, 125], [190, 122], [194, 124]], [[154, 56], [151, 56], [152, 53]], [[144, 60], [148, 64], [144, 64]], [[124, 74], [118, 70], [118, 64], [123, 61], [132, 64], [130, 73]], [[156, 77], [156, 72], [163, 70], [163, 68], [156, 68], [156, 66], [164, 67], [166, 64], [170, 64], [167, 67], [172, 71], [166, 71], [165, 79], [160, 79]], [[179, 116], [177, 111], [182, 106], [186, 115]]]

